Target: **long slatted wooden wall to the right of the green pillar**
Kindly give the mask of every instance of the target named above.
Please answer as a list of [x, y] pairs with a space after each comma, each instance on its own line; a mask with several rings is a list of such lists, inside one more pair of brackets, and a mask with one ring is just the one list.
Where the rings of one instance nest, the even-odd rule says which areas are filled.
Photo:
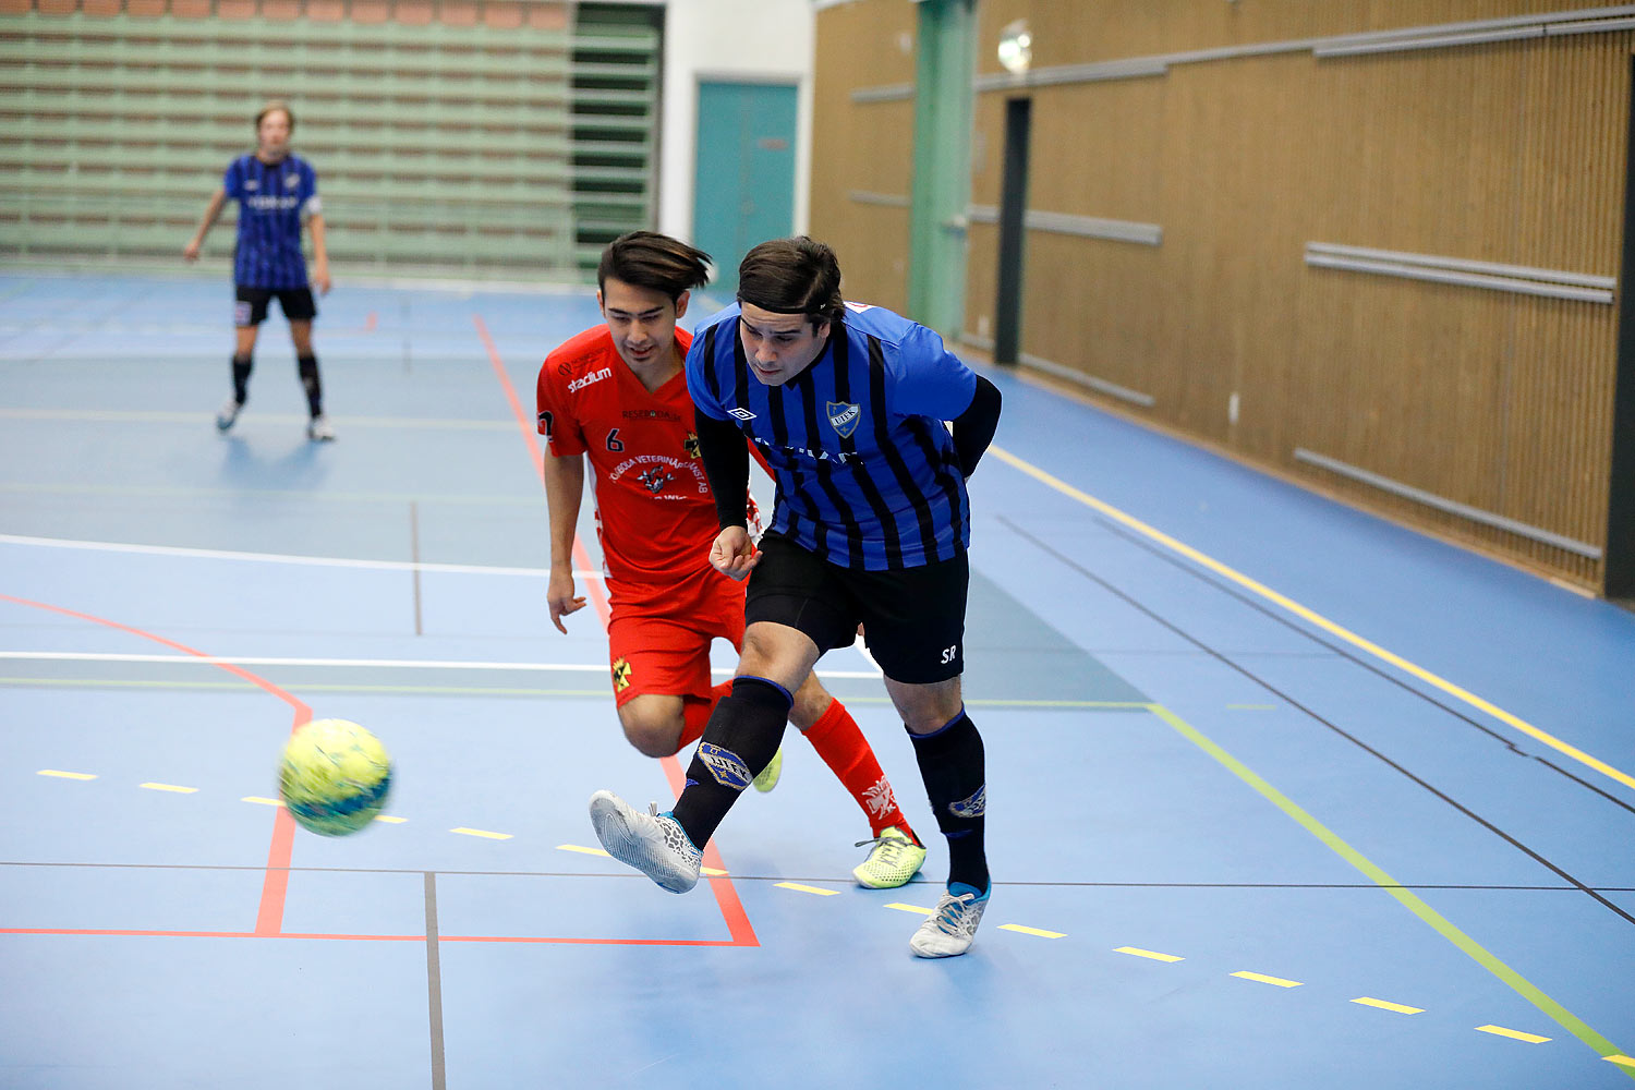
[[[1594, 7], [984, 0], [978, 67], [997, 70], [1015, 18], [1037, 69]], [[1022, 350], [1151, 394], [1136, 415], [1599, 588], [1597, 561], [1293, 451], [1601, 546], [1617, 307], [1315, 268], [1303, 253], [1331, 242], [1617, 276], [1632, 47], [1620, 31], [1298, 51], [978, 93], [974, 204], [999, 203], [1004, 101], [1028, 95], [1030, 209], [1162, 229], [1158, 248], [1030, 230]], [[996, 248], [997, 229], [973, 224], [976, 340], [991, 337]]]

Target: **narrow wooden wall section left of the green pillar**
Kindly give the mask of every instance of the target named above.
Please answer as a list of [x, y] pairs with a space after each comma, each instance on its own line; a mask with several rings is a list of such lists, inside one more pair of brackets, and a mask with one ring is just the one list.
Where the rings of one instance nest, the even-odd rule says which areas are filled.
[[852, 92], [912, 85], [911, 3], [858, 0], [818, 13], [809, 234], [834, 247], [849, 299], [907, 307], [909, 209], [850, 193], [909, 196], [914, 100], [855, 101]]

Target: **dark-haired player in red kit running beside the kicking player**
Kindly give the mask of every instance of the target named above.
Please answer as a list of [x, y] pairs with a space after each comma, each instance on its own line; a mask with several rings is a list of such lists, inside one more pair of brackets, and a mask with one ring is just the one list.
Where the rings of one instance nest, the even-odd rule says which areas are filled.
[[[562, 618], [585, 605], [574, 593], [572, 547], [589, 459], [611, 611], [613, 698], [625, 737], [647, 757], [700, 739], [731, 691], [731, 681], [710, 683], [710, 644], [744, 644], [744, 583], [708, 562], [721, 526], [682, 373], [692, 335], [675, 325], [690, 289], [708, 283], [708, 261], [654, 232], [615, 239], [597, 268], [603, 324], [546, 356], [536, 389], [548, 448], [551, 623], [566, 632]], [[852, 871], [857, 881], [891, 889], [914, 878], [925, 848], [868, 740], [816, 675], [796, 690], [790, 722], [868, 815], [871, 840], [858, 847], [870, 853]], [[755, 786], [770, 791], [780, 766], [782, 753]]]

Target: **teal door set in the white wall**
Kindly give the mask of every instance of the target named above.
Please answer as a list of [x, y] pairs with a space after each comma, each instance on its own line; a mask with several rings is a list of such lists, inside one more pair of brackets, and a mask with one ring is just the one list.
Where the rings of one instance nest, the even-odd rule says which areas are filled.
[[716, 265], [711, 293], [737, 291], [750, 247], [795, 230], [795, 87], [698, 85], [693, 242]]

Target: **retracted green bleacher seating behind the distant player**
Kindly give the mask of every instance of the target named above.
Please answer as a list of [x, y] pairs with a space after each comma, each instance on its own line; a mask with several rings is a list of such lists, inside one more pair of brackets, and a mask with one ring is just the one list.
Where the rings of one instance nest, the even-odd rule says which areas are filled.
[[582, 276], [652, 219], [659, 38], [616, 29], [0, 15], [0, 255], [177, 258], [276, 96], [337, 261]]

